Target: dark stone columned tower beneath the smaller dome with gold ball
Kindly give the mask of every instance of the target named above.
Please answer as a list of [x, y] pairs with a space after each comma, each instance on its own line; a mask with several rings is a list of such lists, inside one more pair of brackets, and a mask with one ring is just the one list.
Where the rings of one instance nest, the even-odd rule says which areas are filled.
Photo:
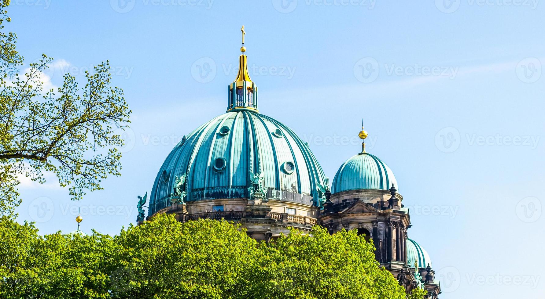
[[[395, 188], [386, 190], [350, 190], [328, 195], [318, 223], [329, 232], [357, 229], [372, 240], [380, 266], [397, 277], [408, 293], [417, 285], [428, 291], [427, 298], [437, 298], [440, 286], [431, 267], [419, 268], [415, 275], [414, 260], [407, 258], [409, 210], [401, 203], [403, 197]], [[420, 282], [417, 277], [421, 277]]]

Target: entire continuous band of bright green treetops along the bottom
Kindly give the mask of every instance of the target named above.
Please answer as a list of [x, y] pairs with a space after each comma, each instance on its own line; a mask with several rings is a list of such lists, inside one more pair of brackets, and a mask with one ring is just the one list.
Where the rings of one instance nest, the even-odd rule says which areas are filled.
[[[404, 299], [373, 245], [355, 232], [292, 230], [258, 243], [227, 221], [159, 215], [111, 238], [40, 236], [0, 220], [1, 298]], [[411, 299], [422, 298], [423, 291]]]

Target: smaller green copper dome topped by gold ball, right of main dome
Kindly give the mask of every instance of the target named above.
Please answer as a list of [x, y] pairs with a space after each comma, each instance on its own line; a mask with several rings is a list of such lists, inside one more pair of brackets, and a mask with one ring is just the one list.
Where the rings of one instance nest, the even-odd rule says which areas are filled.
[[331, 192], [348, 190], [398, 188], [396, 177], [383, 161], [369, 153], [359, 153], [348, 159], [337, 171]]

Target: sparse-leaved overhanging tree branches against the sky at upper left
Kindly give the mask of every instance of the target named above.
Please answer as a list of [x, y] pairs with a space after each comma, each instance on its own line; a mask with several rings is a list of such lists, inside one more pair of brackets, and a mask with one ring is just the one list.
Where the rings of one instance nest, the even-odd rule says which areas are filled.
[[86, 72], [83, 89], [65, 74], [56, 91], [43, 90], [42, 72], [52, 61], [45, 54], [20, 76], [16, 35], [3, 32], [8, 5], [0, 0], [0, 214], [19, 205], [21, 176], [44, 183], [44, 172], [55, 173], [74, 200], [102, 189], [108, 175], [119, 176], [116, 147], [123, 140], [116, 129], [126, 127], [131, 113], [123, 90], [111, 86], [108, 61]]

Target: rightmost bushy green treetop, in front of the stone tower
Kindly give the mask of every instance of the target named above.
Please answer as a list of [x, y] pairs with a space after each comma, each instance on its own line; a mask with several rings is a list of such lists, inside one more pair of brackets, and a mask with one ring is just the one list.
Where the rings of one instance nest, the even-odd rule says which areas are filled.
[[261, 250], [259, 297], [405, 298], [391, 273], [378, 267], [373, 244], [353, 231], [330, 235], [315, 226], [308, 235], [292, 229]]

